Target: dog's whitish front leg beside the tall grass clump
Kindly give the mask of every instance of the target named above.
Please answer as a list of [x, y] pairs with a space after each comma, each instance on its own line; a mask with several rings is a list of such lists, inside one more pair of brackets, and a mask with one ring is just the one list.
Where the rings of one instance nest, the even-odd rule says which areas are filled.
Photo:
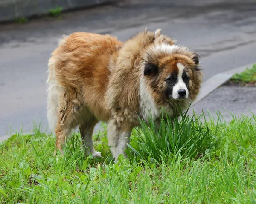
[[125, 148], [130, 141], [131, 129], [130, 125], [126, 123], [118, 124], [114, 119], [108, 122], [108, 144], [111, 146], [115, 161], [121, 154], [126, 157]]

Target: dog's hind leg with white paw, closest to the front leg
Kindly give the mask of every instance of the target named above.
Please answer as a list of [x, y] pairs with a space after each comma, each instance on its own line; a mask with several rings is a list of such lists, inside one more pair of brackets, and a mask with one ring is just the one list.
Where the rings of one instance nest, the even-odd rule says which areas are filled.
[[93, 129], [97, 121], [85, 122], [79, 127], [83, 146], [86, 155], [92, 154], [93, 157], [102, 157], [100, 152], [96, 152], [93, 146]]

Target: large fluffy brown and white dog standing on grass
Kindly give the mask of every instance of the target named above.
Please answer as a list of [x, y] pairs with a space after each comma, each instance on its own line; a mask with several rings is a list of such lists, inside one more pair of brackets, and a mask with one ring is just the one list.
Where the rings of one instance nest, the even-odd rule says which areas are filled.
[[79, 126], [87, 155], [101, 157], [93, 129], [108, 123], [113, 157], [125, 155], [139, 118], [156, 120], [161, 110], [180, 115], [195, 100], [203, 73], [198, 55], [161, 33], [144, 30], [121, 42], [110, 35], [75, 32], [64, 36], [49, 59], [47, 118], [56, 149]]

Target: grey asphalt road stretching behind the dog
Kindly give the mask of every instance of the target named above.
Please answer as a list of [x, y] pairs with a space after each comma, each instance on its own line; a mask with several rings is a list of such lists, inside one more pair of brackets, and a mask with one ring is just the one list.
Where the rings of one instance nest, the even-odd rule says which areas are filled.
[[[47, 61], [62, 34], [109, 33], [126, 40], [141, 29], [163, 33], [201, 55], [207, 80], [216, 73], [256, 61], [256, 2], [252, 0], [140, 0], [0, 25], [1, 136], [44, 131]], [[3, 138], [3, 137], [2, 137]]]

